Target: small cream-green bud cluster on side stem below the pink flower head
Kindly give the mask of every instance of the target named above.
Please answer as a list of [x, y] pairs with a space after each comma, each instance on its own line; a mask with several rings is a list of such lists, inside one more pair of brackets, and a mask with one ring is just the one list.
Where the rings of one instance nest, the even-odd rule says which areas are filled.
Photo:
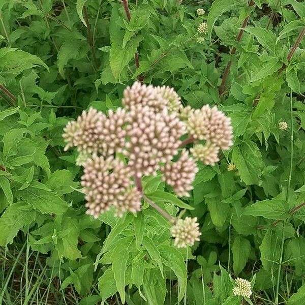
[[199, 241], [199, 224], [197, 217], [186, 217], [179, 219], [176, 224], [171, 228], [171, 234], [175, 237], [175, 246], [177, 248], [192, 247], [195, 241]]

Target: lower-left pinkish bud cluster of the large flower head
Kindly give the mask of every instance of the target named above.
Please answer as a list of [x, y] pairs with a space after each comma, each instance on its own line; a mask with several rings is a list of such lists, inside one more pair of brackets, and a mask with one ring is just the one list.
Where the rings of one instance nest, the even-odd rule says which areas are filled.
[[133, 172], [128, 166], [113, 157], [104, 159], [95, 155], [89, 159], [84, 165], [84, 174], [81, 177], [88, 208], [86, 214], [98, 218], [112, 205], [118, 207], [118, 214], [121, 214], [122, 210], [138, 210], [140, 198], [129, 200], [128, 190], [132, 175]]

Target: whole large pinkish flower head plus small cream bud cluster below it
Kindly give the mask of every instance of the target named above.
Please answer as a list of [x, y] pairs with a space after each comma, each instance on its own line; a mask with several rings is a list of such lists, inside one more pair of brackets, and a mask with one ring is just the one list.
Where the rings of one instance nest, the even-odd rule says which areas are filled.
[[[194, 110], [180, 100], [173, 88], [135, 82], [124, 90], [124, 108], [109, 110], [108, 116], [90, 108], [67, 124], [65, 150], [79, 151], [87, 214], [97, 218], [111, 207], [118, 217], [139, 211], [139, 181], [157, 171], [178, 196], [188, 196], [198, 170], [195, 159], [219, 161], [219, 150], [232, 145], [230, 119], [216, 107]], [[188, 133], [187, 142], [196, 143], [180, 151]], [[197, 219], [178, 220], [172, 233], [177, 247], [193, 245], [200, 235]]]

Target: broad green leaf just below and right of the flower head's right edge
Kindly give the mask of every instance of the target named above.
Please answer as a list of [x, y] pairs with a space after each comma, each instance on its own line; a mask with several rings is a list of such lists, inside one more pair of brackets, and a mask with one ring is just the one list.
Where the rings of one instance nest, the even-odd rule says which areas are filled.
[[233, 146], [232, 162], [247, 185], [261, 184], [262, 155], [254, 142], [247, 140]]

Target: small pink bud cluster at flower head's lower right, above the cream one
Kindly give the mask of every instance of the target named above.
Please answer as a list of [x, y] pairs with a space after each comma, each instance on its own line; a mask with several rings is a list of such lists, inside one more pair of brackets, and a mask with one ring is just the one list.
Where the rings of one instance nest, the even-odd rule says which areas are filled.
[[161, 171], [164, 174], [163, 180], [173, 188], [178, 196], [190, 196], [188, 192], [193, 189], [192, 182], [198, 168], [186, 149], [182, 150], [181, 156], [176, 162], [166, 163]]

